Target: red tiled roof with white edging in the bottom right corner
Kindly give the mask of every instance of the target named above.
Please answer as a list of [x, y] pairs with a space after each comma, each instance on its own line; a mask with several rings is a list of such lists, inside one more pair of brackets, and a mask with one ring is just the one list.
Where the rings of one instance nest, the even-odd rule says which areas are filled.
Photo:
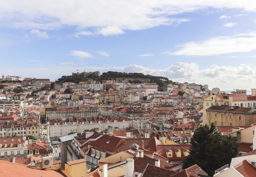
[[236, 164], [235, 166], [233, 166], [233, 168], [236, 169], [236, 171], [238, 171], [244, 177], [255, 177], [256, 168], [254, 168], [246, 160], [243, 160], [239, 164]]

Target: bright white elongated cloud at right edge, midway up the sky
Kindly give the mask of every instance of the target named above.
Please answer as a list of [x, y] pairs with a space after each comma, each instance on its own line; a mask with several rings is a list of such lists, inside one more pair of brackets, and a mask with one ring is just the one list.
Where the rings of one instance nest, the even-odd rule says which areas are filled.
[[250, 52], [256, 50], [256, 34], [245, 33], [234, 36], [215, 37], [205, 41], [191, 41], [178, 46], [175, 52], [164, 52], [168, 55], [207, 56], [225, 53]]

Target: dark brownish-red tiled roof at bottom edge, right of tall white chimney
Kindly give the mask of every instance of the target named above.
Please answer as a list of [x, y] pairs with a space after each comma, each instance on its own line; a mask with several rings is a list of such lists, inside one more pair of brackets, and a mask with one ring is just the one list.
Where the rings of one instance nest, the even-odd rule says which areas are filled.
[[168, 170], [165, 168], [157, 167], [154, 165], [148, 164], [145, 171], [143, 172], [142, 177], [171, 177], [171, 175], [177, 173], [174, 170]]

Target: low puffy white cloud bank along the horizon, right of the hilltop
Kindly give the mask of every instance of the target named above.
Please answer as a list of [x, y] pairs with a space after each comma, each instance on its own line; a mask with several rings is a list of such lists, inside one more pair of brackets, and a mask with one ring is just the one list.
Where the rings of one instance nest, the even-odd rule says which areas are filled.
[[168, 77], [173, 81], [208, 84], [210, 88], [221, 90], [250, 89], [256, 84], [256, 68], [250, 64], [239, 66], [211, 65], [200, 68], [196, 63], [174, 63], [164, 69], [150, 69], [139, 65], [129, 65], [124, 72], [141, 72], [154, 76]]

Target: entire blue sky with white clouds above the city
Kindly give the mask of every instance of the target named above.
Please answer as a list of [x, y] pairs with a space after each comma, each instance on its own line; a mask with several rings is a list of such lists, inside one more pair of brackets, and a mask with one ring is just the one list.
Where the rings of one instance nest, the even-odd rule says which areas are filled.
[[0, 0], [0, 74], [141, 72], [256, 87], [254, 0]]

